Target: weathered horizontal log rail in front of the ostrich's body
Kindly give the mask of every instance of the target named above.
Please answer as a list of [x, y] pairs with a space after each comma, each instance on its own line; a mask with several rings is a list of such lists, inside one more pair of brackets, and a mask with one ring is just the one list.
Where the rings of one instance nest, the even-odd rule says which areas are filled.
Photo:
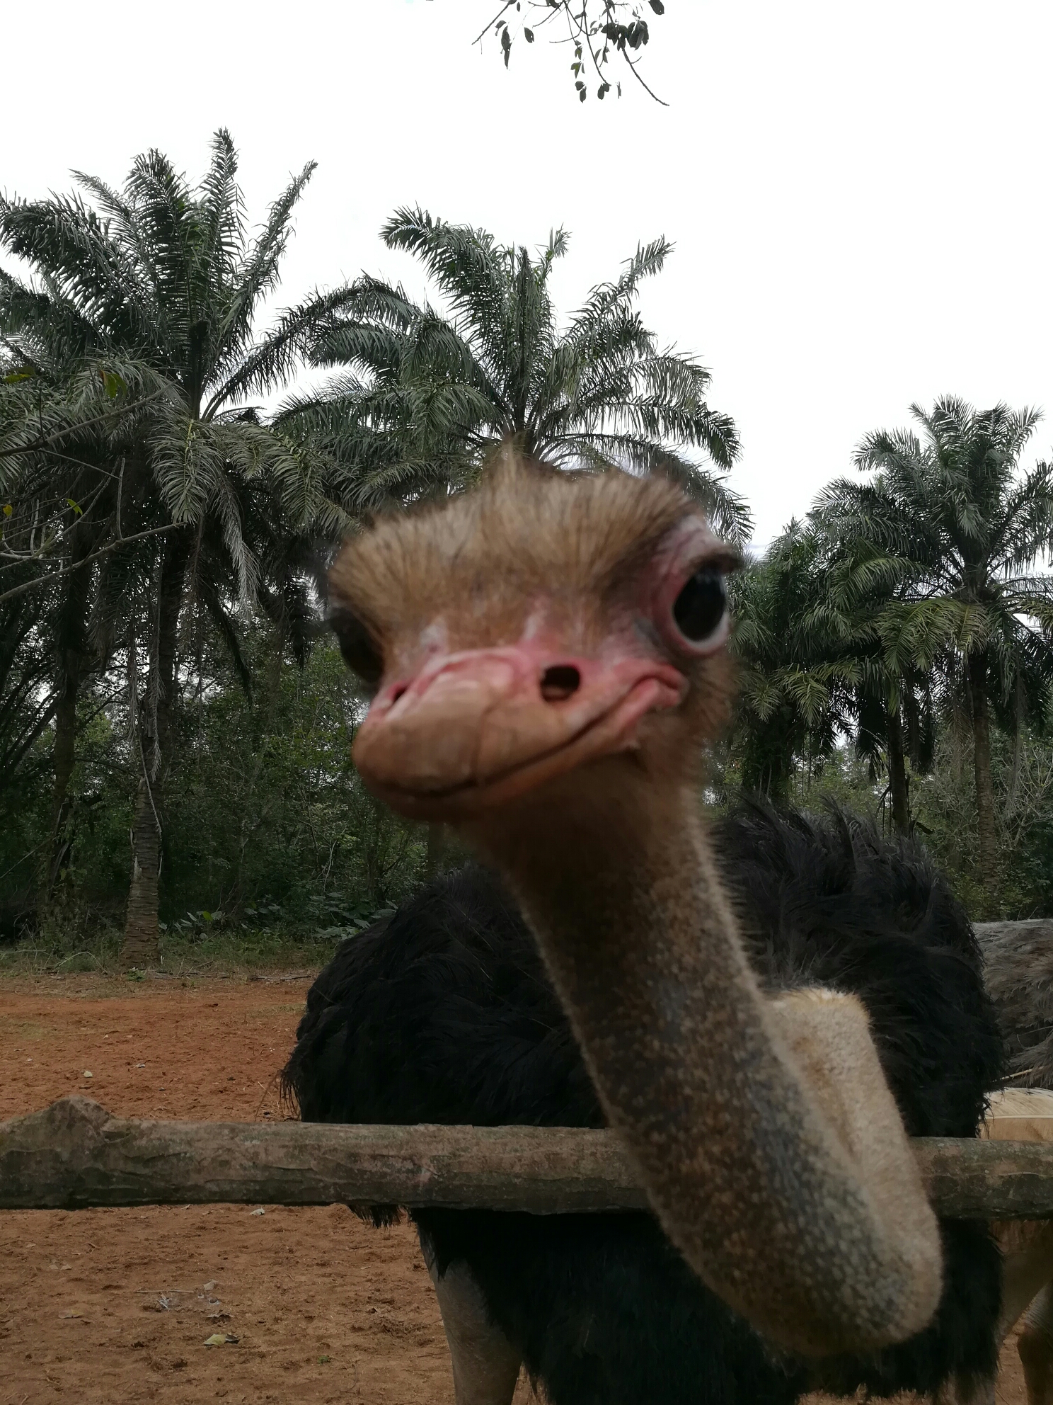
[[[1053, 1142], [914, 1145], [941, 1214], [1053, 1218]], [[209, 1203], [557, 1214], [646, 1197], [605, 1131], [131, 1121], [80, 1096], [0, 1123], [0, 1210]]]

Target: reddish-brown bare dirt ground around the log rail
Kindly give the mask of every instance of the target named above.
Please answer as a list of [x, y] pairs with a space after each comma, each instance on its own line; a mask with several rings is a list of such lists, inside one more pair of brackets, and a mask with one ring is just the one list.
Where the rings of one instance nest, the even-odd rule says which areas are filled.
[[[125, 1117], [281, 1117], [307, 984], [8, 979], [0, 1117], [74, 1090]], [[3, 1405], [453, 1399], [416, 1236], [337, 1205], [8, 1211], [0, 1304]], [[205, 1346], [215, 1332], [237, 1342]], [[521, 1381], [517, 1405], [532, 1399]], [[1009, 1346], [998, 1402], [1024, 1401]]]

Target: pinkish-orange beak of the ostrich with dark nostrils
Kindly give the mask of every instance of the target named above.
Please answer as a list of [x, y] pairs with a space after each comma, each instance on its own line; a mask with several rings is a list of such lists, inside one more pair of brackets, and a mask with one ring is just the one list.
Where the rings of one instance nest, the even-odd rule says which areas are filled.
[[352, 756], [393, 809], [452, 821], [635, 747], [639, 722], [685, 693], [685, 677], [656, 659], [566, 658], [536, 643], [449, 653], [382, 688]]

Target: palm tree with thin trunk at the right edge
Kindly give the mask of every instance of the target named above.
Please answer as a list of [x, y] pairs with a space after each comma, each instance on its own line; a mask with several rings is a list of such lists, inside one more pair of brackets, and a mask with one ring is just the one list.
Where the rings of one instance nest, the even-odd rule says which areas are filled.
[[943, 660], [973, 732], [980, 871], [997, 882], [991, 717], [1045, 721], [1053, 681], [1053, 468], [1021, 472], [1038, 413], [977, 412], [953, 396], [911, 406], [911, 430], [869, 434], [855, 455], [869, 483], [840, 479], [819, 510], [855, 558], [862, 594], [885, 590], [882, 628], [904, 656]]

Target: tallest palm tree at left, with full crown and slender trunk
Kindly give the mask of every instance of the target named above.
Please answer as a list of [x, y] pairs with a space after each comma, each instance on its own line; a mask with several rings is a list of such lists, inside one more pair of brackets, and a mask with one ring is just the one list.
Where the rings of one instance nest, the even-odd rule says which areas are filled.
[[[0, 200], [0, 244], [31, 268], [29, 282], [0, 270], [0, 334], [31, 370], [101, 368], [104, 389], [126, 409], [122, 443], [95, 465], [104, 478], [91, 513], [73, 493], [65, 496], [81, 507], [79, 523], [94, 524], [84, 555], [95, 572], [94, 606], [83, 594], [83, 610], [94, 611], [102, 632], [114, 620], [133, 627], [125, 639], [140, 763], [125, 926], [125, 960], [133, 964], [154, 960], [157, 950], [164, 777], [185, 607], [205, 610], [233, 643], [232, 590], [263, 594], [272, 608], [295, 596], [282, 525], [336, 531], [345, 521], [323, 489], [319, 457], [244, 405], [288, 381], [348, 296], [347, 289], [316, 294], [256, 333], [313, 169], [309, 163], [291, 181], [251, 239], [226, 131], [213, 138], [198, 188], [152, 150], [136, 157], [119, 191], [77, 176], [94, 204], [81, 194]], [[63, 495], [51, 496], [60, 517]], [[261, 514], [250, 527], [254, 509]], [[53, 540], [44, 566], [76, 569], [69, 534]], [[277, 592], [267, 590], [272, 568], [285, 573]]]

